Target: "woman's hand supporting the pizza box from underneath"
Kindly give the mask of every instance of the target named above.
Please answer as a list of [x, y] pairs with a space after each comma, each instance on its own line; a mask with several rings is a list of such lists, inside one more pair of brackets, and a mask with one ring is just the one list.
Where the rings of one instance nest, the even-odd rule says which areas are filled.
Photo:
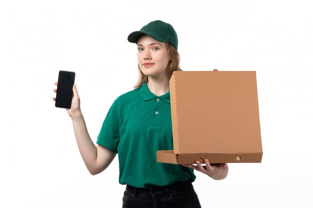
[[182, 165], [182, 166], [187, 167], [187, 168], [192, 168], [196, 171], [200, 171], [214, 180], [222, 180], [226, 178], [228, 174], [228, 165], [226, 163], [210, 165], [208, 160], [206, 159], [204, 160], [204, 163], [205, 163], [205, 166], [202, 166], [199, 161], [196, 161], [196, 166], [192, 164]]

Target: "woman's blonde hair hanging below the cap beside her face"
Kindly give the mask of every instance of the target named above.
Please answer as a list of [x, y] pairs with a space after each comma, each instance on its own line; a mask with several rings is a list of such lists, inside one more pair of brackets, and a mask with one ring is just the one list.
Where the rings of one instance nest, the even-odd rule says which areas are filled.
[[[180, 62], [180, 56], [178, 51], [174, 46], [172, 46], [170, 43], [165, 42], [167, 54], [168, 54], [168, 64], [167, 64], [167, 76], [170, 78], [174, 71], [182, 71], [179, 67]], [[139, 67], [138, 64], [138, 70], [139, 70], [139, 78], [137, 83], [133, 86], [135, 89], [139, 88], [144, 82], [148, 82], [148, 77], [144, 75]]]

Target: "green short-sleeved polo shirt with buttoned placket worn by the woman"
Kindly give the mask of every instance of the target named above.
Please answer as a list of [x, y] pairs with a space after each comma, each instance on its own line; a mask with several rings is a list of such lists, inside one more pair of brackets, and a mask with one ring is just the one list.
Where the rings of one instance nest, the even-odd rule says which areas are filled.
[[144, 82], [110, 107], [97, 144], [118, 153], [119, 183], [146, 188], [193, 182], [193, 169], [156, 162], [157, 150], [172, 150], [169, 92], [156, 96]]

